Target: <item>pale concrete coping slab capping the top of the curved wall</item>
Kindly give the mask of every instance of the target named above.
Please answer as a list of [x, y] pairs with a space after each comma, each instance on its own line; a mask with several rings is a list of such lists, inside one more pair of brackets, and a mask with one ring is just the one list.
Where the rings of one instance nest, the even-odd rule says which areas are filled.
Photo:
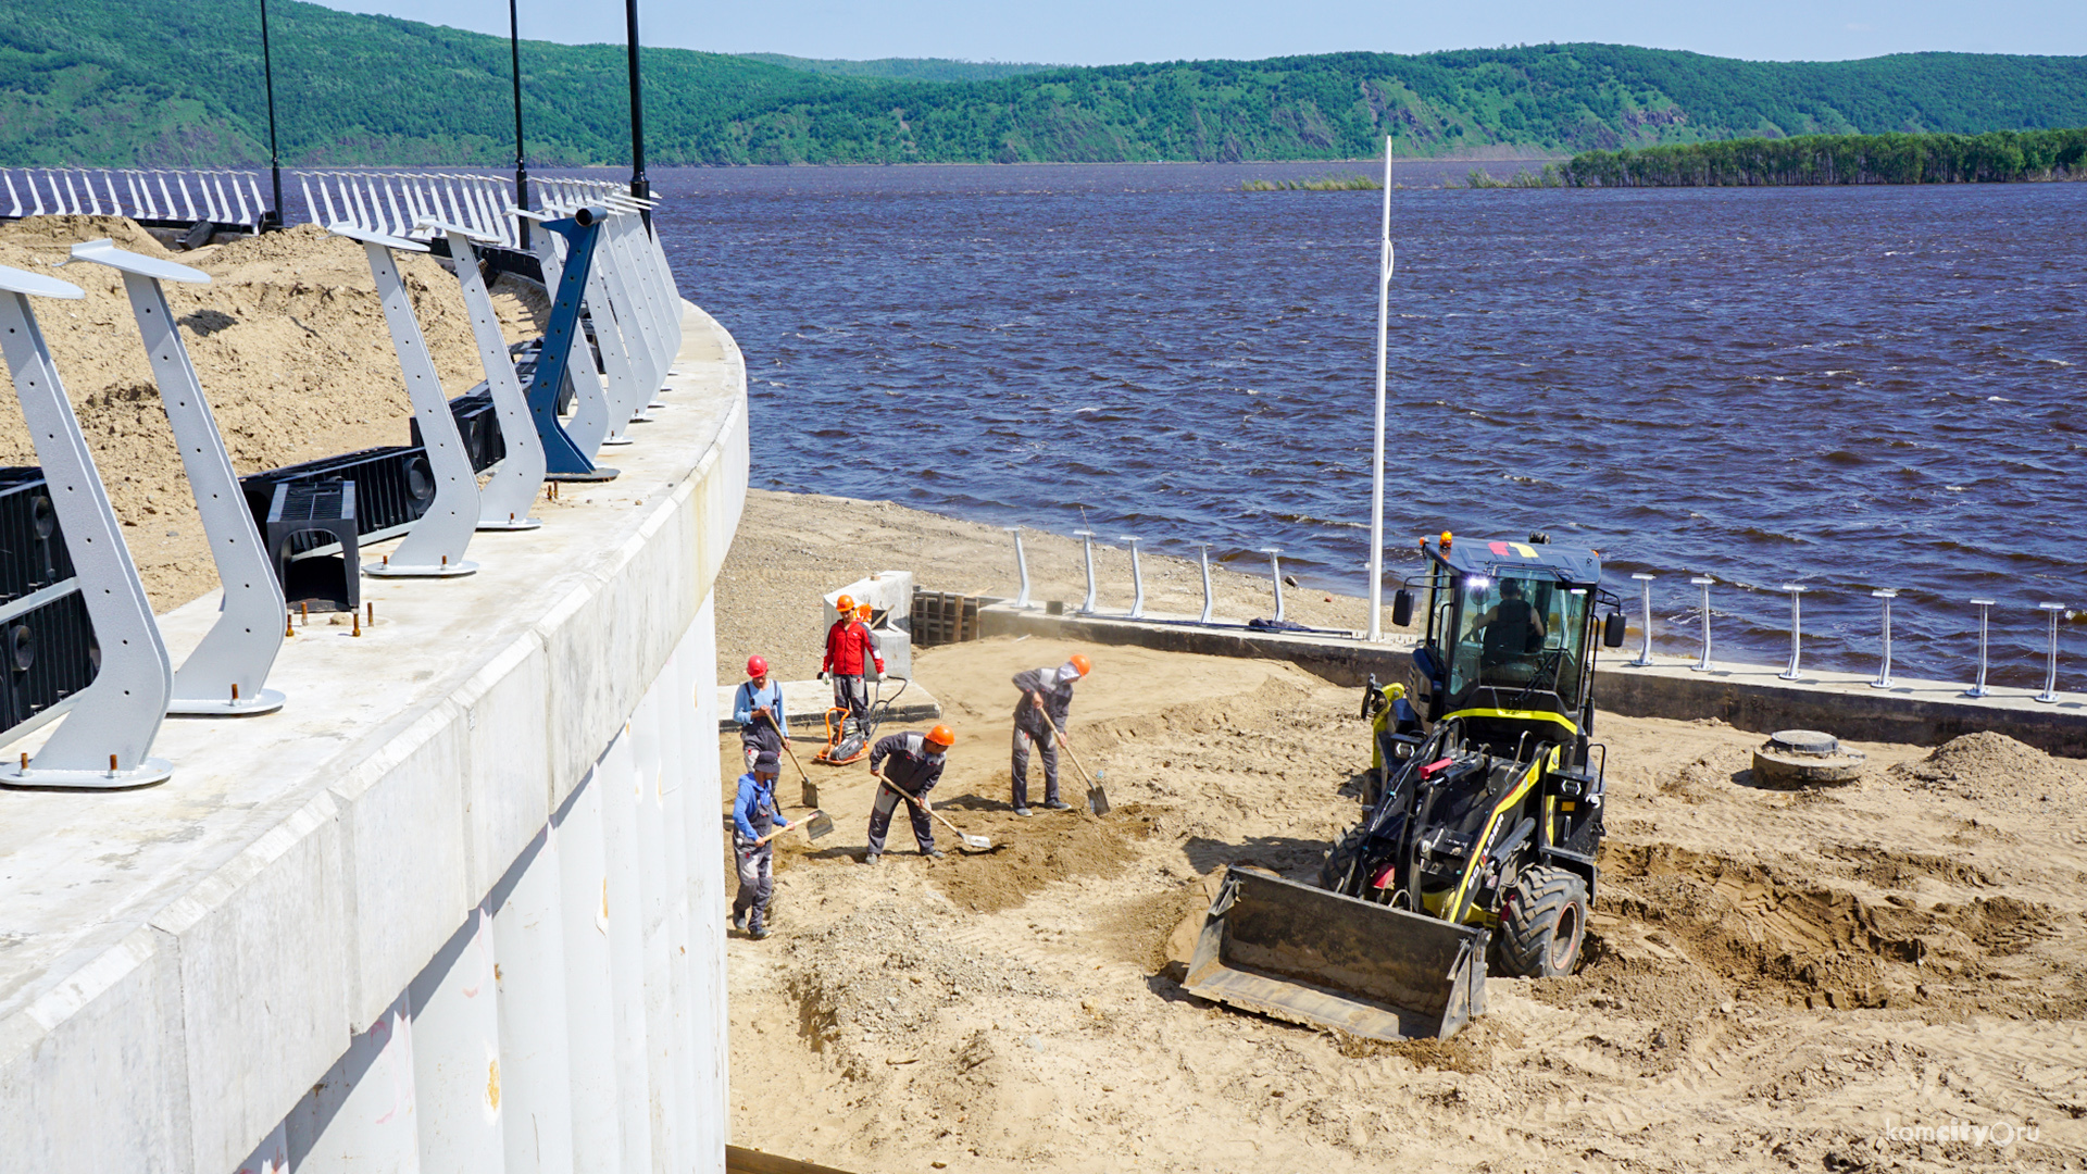
[[[624, 727], [745, 501], [743, 357], [693, 305], [682, 324], [674, 409], [618, 449], [618, 480], [561, 487], [541, 531], [476, 535], [472, 577], [365, 579], [359, 637], [286, 641], [280, 712], [169, 719], [157, 788], [0, 792], [0, 1130], [61, 1116], [33, 1126], [33, 1168], [232, 1170]], [[175, 662], [215, 618], [215, 593], [161, 616]], [[81, 1047], [142, 1067], [102, 1080]], [[88, 1078], [152, 1107], [44, 1101]]]

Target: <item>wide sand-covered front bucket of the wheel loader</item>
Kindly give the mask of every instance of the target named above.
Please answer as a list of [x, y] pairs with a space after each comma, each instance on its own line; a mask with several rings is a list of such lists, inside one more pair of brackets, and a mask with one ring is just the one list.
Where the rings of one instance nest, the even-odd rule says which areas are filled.
[[1486, 940], [1476, 925], [1225, 869], [1181, 986], [1371, 1040], [1453, 1036], [1486, 1011]]

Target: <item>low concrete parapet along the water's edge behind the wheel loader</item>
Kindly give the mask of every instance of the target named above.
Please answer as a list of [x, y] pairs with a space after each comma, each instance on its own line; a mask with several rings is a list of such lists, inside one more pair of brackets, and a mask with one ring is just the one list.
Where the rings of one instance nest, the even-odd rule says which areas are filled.
[[[1169, 623], [1175, 620], [1175, 623]], [[1327, 681], [1361, 685], [1419, 681], [1413, 671], [1415, 637], [1392, 635], [1365, 643], [1357, 633], [1271, 633], [1244, 625], [1208, 627], [1190, 616], [1052, 616], [1041, 608], [991, 604], [979, 608], [979, 635], [1037, 635], [1092, 643], [1135, 643], [1206, 656], [1261, 656], [1290, 660]], [[1655, 656], [1630, 666], [1622, 650], [1605, 650], [1594, 671], [1594, 704], [1626, 717], [1720, 719], [1738, 729], [1824, 729], [1857, 742], [1939, 744], [1960, 733], [1991, 729], [2047, 754], [2087, 758], [2087, 694], [2060, 694], [2056, 704], [2031, 700], [2029, 689], [1995, 689], [1966, 698], [1964, 685], [1895, 679], [1872, 689], [1862, 673], [1801, 673], [1784, 681], [1764, 664], [1716, 662], [1690, 668], [1684, 656]]]

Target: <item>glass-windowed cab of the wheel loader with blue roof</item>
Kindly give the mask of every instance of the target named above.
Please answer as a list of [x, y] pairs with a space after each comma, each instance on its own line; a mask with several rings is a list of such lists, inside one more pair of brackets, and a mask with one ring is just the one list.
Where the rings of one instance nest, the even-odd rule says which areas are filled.
[[1430, 725], [1457, 719], [1496, 754], [1519, 756], [1524, 742], [1584, 746], [1605, 627], [1597, 610], [1615, 608], [1601, 589], [1601, 556], [1453, 535], [1421, 549], [1428, 572], [1415, 589], [1425, 629], [1413, 660], [1428, 683]]

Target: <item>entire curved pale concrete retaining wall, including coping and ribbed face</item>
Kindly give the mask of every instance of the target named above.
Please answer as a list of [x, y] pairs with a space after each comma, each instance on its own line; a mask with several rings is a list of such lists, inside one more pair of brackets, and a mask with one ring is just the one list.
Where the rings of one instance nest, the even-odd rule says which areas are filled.
[[[159, 788], [0, 794], [0, 1170], [722, 1170], [747, 401], [682, 322], [618, 480], [367, 581], [280, 714], [169, 719]], [[163, 616], [177, 660], [213, 618]]]

